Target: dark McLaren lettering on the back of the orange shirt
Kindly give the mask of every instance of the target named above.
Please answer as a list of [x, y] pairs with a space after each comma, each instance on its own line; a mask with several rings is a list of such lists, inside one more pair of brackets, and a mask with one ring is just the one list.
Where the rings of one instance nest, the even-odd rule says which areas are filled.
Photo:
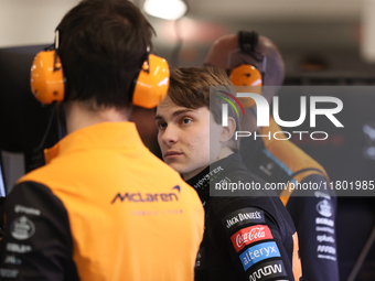
[[172, 187], [172, 192], [170, 193], [129, 193], [126, 192], [121, 195], [121, 193], [117, 193], [111, 204], [116, 202], [132, 202], [132, 203], [156, 203], [156, 202], [174, 202], [179, 201], [179, 194], [181, 192], [180, 185], [175, 185]]

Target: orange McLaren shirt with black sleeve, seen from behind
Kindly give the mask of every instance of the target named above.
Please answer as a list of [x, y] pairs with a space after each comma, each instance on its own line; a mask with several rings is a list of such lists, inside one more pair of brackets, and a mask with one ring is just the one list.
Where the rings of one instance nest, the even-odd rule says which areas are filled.
[[74, 131], [7, 202], [1, 280], [193, 280], [204, 210], [131, 122]]

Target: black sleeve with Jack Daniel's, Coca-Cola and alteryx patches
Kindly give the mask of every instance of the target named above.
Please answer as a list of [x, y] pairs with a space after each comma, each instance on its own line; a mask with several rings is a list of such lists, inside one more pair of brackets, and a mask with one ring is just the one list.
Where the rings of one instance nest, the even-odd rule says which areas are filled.
[[[292, 252], [286, 250], [278, 223], [266, 209], [235, 205], [218, 214], [211, 234], [236, 268], [237, 277], [231, 280], [294, 280]], [[288, 242], [292, 249], [292, 237]]]

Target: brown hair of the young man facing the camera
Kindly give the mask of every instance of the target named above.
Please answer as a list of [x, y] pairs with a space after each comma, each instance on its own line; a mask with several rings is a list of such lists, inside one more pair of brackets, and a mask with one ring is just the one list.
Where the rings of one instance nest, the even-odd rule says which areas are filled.
[[[212, 87], [211, 90], [210, 87]], [[171, 100], [178, 106], [191, 109], [206, 107], [216, 123], [222, 122], [222, 105], [226, 104], [219, 97], [228, 98], [222, 91], [236, 95], [232, 82], [221, 68], [211, 66], [171, 68], [168, 91]], [[232, 106], [228, 106], [228, 116], [236, 121], [236, 130], [240, 130], [239, 118]], [[233, 137], [229, 147], [237, 151], [239, 141], [236, 141]]]

